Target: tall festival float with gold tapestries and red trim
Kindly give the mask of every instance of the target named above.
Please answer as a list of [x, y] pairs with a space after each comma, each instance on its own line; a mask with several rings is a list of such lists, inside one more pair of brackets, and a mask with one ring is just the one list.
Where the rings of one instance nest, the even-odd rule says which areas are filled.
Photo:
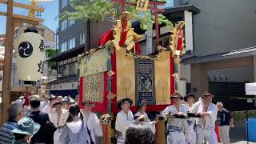
[[[157, 13], [157, 6], [164, 2], [150, 1], [148, 4]], [[100, 46], [79, 56], [78, 101], [81, 107], [83, 100], [90, 99], [95, 105], [93, 111], [110, 114], [114, 124], [119, 111], [117, 102], [121, 98], [133, 100], [130, 108], [133, 112], [137, 111], [135, 105], [141, 99], [146, 99], [147, 113], [159, 113], [170, 105], [170, 95], [178, 92], [180, 55], [185, 53], [184, 22], [173, 27], [170, 47], [165, 48], [159, 46], [157, 19], [156, 16], [157, 46], [154, 54], [140, 54], [138, 40], [142, 36], [134, 32], [130, 14], [123, 11], [116, 25], [102, 36]], [[111, 143], [110, 139], [114, 138], [110, 122], [103, 122], [104, 143]], [[158, 122], [156, 127], [157, 143], [165, 143], [165, 122]]]

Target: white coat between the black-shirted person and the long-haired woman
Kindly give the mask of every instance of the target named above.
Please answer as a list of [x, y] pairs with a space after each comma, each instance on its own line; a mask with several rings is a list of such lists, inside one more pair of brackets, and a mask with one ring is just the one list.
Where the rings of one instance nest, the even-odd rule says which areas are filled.
[[[57, 111], [53, 110], [53, 112], [50, 114], [50, 122], [54, 123], [54, 126], [63, 126], [66, 122], [66, 119], [68, 118], [69, 113], [67, 110], [62, 109], [62, 113], [61, 116], [59, 118], [59, 122], [58, 122], [58, 116], [57, 116]], [[60, 144], [60, 142], [58, 141], [59, 139], [59, 135], [61, 134], [62, 129], [58, 128], [55, 132], [54, 132], [54, 144]]]

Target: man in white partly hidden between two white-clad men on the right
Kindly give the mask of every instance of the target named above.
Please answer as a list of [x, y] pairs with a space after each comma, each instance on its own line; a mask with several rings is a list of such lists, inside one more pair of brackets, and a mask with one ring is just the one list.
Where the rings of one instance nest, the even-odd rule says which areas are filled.
[[[184, 101], [186, 102], [184, 105], [186, 106], [186, 110], [190, 110], [192, 106], [194, 106], [194, 94], [187, 94], [184, 98]], [[195, 144], [196, 142], [196, 133], [195, 133], [195, 122], [196, 118], [188, 118], [187, 123], [188, 126], [186, 127], [186, 144]]]

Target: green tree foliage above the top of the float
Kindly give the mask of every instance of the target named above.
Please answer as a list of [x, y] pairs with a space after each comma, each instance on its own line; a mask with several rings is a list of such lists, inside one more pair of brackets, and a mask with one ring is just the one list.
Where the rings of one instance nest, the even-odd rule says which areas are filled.
[[[160, 0], [159, 0], [160, 1]], [[129, 2], [135, 2], [130, 0]], [[162, 0], [161, 0], [162, 2]], [[72, 11], [65, 11], [60, 14], [61, 19], [70, 18], [73, 20], [89, 20], [90, 22], [99, 22], [104, 20], [114, 21], [119, 18], [120, 4], [114, 4], [111, 0], [73, 0], [71, 2]], [[142, 30], [152, 30], [154, 25], [154, 14], [150, 10], [146, 12], [138, 11], [135, 6], [126, 6], [130, 12], [132, 21], [139, 21]], [[158, 14], [158, 23], [171, 25], [172, 23], [162, 14]]]

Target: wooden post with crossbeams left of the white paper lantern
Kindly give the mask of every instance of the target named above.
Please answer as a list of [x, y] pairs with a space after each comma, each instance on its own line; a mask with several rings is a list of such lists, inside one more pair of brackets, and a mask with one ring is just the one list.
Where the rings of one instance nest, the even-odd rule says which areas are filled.
[[7, 5], [7, 13], [0, 12], [0, 15], [6, 16], [6, 42], [5, 42], [5, 58], [3, 66], [3, 82], [2, 82], [2, 108], [1, 108], [1, 126], [7, 120], [7, 107], [10, 105], [10, 90], [11, 90], [11, 70], [14, 48], [14, 28], [22, 26], [23, 23], [38, 25], [43, 22], [43, 19], [28, 17], [13, 13], [14, 6], [26, 9], [43, 12], [44, 9], [38, 6], [28, 6], [22, 3], [14, 2], [14, 0], [0, 0], [0, 3]]

